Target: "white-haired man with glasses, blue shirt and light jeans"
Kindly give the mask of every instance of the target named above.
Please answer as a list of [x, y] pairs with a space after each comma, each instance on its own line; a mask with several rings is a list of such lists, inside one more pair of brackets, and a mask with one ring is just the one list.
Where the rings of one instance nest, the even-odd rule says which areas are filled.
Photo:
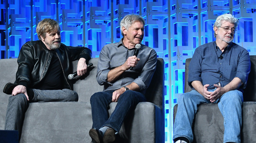
[[192, 123], [203, 103], [218, 103], [224, 117], [223, 142], [241, 142], [243, 89], [250, 57], [245, 48], [232, 42], [238, 22], [231, 14], [218, 16], [213, 25], [216, 41], [196, 48], [188, 72], [188, 85], [193, 90], [179, 97], [173, 127], [175, 143], [193, 142]]

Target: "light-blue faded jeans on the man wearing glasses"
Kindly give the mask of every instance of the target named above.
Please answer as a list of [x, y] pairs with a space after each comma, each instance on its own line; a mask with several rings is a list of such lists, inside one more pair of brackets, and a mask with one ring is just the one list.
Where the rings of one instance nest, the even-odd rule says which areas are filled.
[[[208, 91], [213, 91], [208, 90]], [[211, 103], [196, 90], [181, 94], [178, 101], [178, 109], [173, 127], [173, 139], [186, 137], [190, 143], [193, 141], [192, 123], [197, 113], [198, 106], [203, 103]], [[218, 103], [221, 114], [224, 117], [224, 143], [240, 143], [240, 128], [242, 126], [243, 93], [232, 90], [224, 93]]]

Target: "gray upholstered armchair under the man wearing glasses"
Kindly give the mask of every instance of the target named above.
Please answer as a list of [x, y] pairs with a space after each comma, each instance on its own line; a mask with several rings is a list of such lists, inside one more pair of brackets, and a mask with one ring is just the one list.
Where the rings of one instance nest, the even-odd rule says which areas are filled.
[[[191, 91], [187, 84], [188, 66], [191, 58], [186, 59], [184, 92]], [[250, 56], [251, 71], [244, 92], [243, 125], [241, 130], [241, 143], [256, 142], [256, 56]], [[179, 101], [178, 101], [179, 102]], [[177, 113], [178, 104], [173, 108], [173, 120]], [[223, 142], [224, 124], [223, 116], [217, 103], [202, 104], [194, 118], [192, 125], [193, 143], [221, 143]]]

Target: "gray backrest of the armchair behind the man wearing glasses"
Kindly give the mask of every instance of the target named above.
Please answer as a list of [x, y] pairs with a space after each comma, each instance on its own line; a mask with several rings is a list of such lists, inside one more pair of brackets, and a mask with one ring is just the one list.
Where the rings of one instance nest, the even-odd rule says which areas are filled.
[[[191, 58], [186, 59], [185, 63], [185, 85], [184, 92], [189, 92], [192, 89], [188, 86], [188, 66]], [[251, 71], [248, 76], [247, 86], [244, 89], [244, 102], [253, 101], [256, 102], [256, 56], [250, 56]]]

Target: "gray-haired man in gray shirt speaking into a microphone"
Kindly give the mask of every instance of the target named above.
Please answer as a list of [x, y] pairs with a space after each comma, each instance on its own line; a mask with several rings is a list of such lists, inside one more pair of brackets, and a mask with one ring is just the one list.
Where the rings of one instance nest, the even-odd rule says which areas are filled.
[[[105, 45], [100, 52], [96, 80], [104, 89], [90, 99], [91, 143], [114, 142], [124, 119], [129, 118], [139, 102], [146, 101], [145, 92], [156, 70], [157, 53], [140, 44], [144, 25], [141, 16], [126, 15], [120, 22], [123, 38]], [[117, 105], [109, 116], [111, 102], [117, 102]]]

